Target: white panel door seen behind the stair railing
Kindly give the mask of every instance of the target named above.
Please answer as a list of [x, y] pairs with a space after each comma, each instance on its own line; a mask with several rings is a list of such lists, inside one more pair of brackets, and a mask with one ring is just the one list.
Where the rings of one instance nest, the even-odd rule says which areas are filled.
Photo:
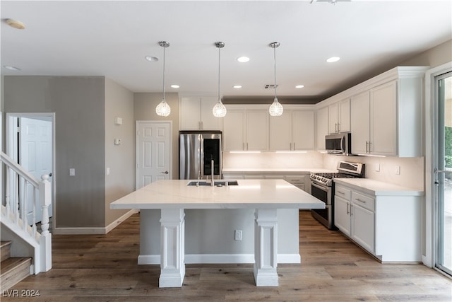
[[[19, 164], [35, 178], [41, 180], [43, 174], [52, 173], [52, 122], [20, 117], [19, 129]], [[23, 183], [20, 184], [20, 194], [25, 193], [23, 185]], [[26, 190], [28, 223], [39, 222], [42, 214], [37, 191], [35, 205], [33, 205], [32, 185], [27, 185]], [[34, 219], [33, 206], [36, 208]], [[49, 207], [49, 216], [52, 216], [52, 207]]]

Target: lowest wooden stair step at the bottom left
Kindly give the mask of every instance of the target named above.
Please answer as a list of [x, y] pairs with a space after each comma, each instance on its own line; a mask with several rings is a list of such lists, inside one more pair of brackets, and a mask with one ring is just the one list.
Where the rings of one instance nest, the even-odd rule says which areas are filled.
[[12, 286], [30, 276], [30, 257], [11, 257], [1, 262], [0, 291], [6, 291]]

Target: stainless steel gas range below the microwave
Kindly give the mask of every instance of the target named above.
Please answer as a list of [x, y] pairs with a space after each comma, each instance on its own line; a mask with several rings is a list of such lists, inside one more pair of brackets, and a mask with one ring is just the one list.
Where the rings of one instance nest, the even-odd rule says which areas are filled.
[[325, 209], [312, 209], [311, 214], [329, 229], [334, 228], [334, 179], [364, 178], [364, 163], [340, 161], [338, 173], [311, 173], [311, 195], [325, 202]]

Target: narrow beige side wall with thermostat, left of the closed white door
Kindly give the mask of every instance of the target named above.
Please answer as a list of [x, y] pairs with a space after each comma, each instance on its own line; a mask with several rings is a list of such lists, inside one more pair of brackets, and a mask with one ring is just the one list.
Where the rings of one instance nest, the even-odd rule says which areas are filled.
[[[122, 124], [115, 124], [121, 117]], [[121, 139], [114, 145], [114, 139]], [[127, 210], [112, 210], [110, 203], [135, 190], [135, 120], [133, 93], [105, 79], [105, 226]], [[107, 173], [109, 170], [109, 173]]]

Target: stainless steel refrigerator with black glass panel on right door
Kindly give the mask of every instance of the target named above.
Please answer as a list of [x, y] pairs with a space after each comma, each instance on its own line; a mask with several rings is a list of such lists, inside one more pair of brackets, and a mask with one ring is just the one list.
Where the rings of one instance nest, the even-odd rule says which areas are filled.
[[179, 179], [222, 179], [220, 131], [179, 132]]

